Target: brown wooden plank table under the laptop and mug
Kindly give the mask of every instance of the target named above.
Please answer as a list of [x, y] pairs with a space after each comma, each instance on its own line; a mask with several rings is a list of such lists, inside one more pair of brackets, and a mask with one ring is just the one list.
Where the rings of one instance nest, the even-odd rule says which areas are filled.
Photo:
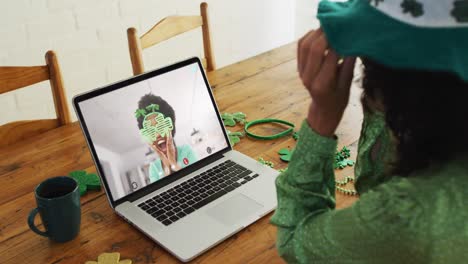
[[[208, 77], [222, 112], [243, 111], [248, 119], [275, 117], [300, 127], [309, 96], [296, 71], [296, 44], [292, 43], [251, 59], [209, 73]], [[340, 125], [340, 146], [351, 145], [355, 155], [362, 110], [359, 89], [353, 88], [350, 107]], [[240, 127], [232, 129], [240, 130]], [[278, 127], [257, 128], [272, 133]], [[254, 159], [263, 157], [276, 169], [287, 166], [278, 150], [293, 147], [291, 137], [273, 141], [244, 138], [235, 149]], [[85, 169], [95, 172], [90, 153], [77, 123], [29, 138], [0, 149], [0, 263], [84, 263], [103, 252], [120, 252], [133, 263], [177, 263], [177, 259], [117, 217], [103, 191], [82, 198], [79, 236], [57, 244], [29, 230], [26, 218], [35, 207], [34, 187], [44, 179]], [[352, 168], [337, 174], [351, 175]], [[337, 207], [355, 198], [337, 194]], [[276, 248], [276, 228], [271, 215], [227, 239], [193, 263], [283, 263]], [[37, 220], [39, 222], [39, 220]]]

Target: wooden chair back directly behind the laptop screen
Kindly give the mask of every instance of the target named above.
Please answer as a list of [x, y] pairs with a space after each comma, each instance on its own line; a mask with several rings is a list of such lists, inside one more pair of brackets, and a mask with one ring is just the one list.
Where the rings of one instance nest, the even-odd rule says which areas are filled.
[[207, 71], [214, 70], [216, 66], [211, 47], [207, 3], [200, 4], [200, 13], [200, 16], [166, 17], [141, 37], [138, 37], [138, 33], [135, 28], [129, 28], [127, 30], [127, 37], [133, 74], [138, 75], [144, 72], [143, 59], [141, 55], [143, 49], [149, 48], [198, 27], [201, 27], [203, 32], [203, 47], [205, 53], [205, 58], [202, 59], [203, 67]]

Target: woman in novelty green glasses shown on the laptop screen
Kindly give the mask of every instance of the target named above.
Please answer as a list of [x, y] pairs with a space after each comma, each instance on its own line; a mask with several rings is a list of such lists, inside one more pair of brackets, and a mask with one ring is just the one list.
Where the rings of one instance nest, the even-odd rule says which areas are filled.
[[135, 117], [140, 136], [159, 157], [149, 167], [151, 182], [197, 161], [189, 145], [176, 145], [175, 112], [160, 96], [146, 94], [141, 97]]

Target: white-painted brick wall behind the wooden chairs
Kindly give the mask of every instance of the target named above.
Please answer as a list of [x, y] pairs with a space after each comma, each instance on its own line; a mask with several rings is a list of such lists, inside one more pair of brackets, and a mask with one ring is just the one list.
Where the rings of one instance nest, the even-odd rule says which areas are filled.
[[[218, 67], [295, 39], [305, 0], [207, 0]], [[43, 65], [57, 52], [71, 98], [131, 76], [126, 29], [140, 34], [168, 15], [198, 14], [201, 0], [0, 0], [0, 65]], [[310, 6], [310, 4], [309, 4]], [[310, 10], [310, 8], [309, 8]], [[145, 50], [146, 69], [202, 55], [200, 31]], [[0, 95], [0, 125], [54, 116], [48, 82]], [[71, 108], [71, 105], [70, 105]], [[73, 113], [74, 116], [74, 113]]]

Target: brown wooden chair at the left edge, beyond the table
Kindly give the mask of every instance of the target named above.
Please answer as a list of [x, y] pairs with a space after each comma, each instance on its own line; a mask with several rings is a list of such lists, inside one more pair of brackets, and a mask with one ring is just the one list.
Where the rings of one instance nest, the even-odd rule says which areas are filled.
[[50, 80], [57, 118], [16, 121], [0, 126], [0, 147], [71, 122], [57, 56], [48, 51], [45, 58], [47, 65], [43, 66], [0, 67], [0, 94]]

